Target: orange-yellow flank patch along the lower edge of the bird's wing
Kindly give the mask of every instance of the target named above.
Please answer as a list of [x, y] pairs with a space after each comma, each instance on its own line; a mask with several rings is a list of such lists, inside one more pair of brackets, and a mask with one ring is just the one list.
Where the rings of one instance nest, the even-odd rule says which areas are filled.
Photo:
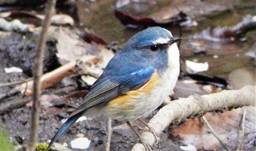
[[141, 88], [137, 90], [132, 90], [127, 92], [124, 96], [118, 96], [117, 98], [114, 98], [109, 102], [110, 107], [120, 107], [122, 104], [126, 104], [127, 101], [139, 97], [142, 94], [150, 94], [151, 91], [155, 88], [157, 85], [158, 80], [158, 74], [157, 71], [154, 71], [154, 74], [152, 74], [151, 80], [146, 82], [145, 85], [143, 85]]

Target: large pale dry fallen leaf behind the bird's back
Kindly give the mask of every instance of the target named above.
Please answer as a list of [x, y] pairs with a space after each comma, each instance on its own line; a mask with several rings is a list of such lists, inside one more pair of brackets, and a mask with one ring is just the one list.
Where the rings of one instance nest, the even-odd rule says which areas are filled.
[[48, 34], [58, 42], [56, 48], [59, 62], [64, 64], [69, 61], [76, 61], [83, 55], [88, 55], [92, 58], [100, 58], [101, 67], [104, 68], [110, 58], [113, 57], [113, 52], [95, 43], [84, 42], [80, 39], [80, 34], [75, 34], [76, 32], [79, 31], [74, 32], [69, 28], [50, 26]]

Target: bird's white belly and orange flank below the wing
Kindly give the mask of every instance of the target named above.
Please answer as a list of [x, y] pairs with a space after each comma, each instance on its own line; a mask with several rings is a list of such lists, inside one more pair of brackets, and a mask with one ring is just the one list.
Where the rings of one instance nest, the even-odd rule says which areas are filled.
[[[166, 84], [166, 85], [165, 85]], [[169, 83], [170, 84], [170, 83]], [[136, 120], [147, 117], [154, 109], [157, 109], [170, 92], [162, 81], [157, 71], [143, 87], [129, 91], [123, 96], [118, 96], [108, 103], [105, 112], [113, 119], [119, 121]]]

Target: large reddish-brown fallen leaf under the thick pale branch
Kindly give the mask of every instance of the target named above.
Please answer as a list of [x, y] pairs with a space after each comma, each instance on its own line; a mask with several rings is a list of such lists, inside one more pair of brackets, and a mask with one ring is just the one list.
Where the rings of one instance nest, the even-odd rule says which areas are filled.
[[[223, 113], [209, 112], [205, 116], [222, 142], [227, 144], [230, 150], [236, 150], [239, 138], [238, 133], [241, 133], [241, 131], [238, 131], [238, 126], [241, 128], [241, 115], [246, 110], [244, 150], [250, 150], [253, 144], [248, 142], [251, 142], [256, 136], [256, 126], [253, 122], [256, 120], [255, 109], [255, 107], [243, 107]], [[174, 142], [193, 144], [197, 150], [223, 150], [222, 145], [219, 144], [218, 140], [200, 118], [189, 119], [170, 133]]]

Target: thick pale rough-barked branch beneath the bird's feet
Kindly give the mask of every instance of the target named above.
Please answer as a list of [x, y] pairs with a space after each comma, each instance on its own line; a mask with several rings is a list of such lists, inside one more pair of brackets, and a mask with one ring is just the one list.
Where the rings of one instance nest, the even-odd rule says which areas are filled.
[[[255, 106], [255, 89], [256, 86], [247, 85], [240, 90], [223, 90], [205, 96], [193, 95], [189, 98], [180, 98], [162, 107], [157, 115], [149, 121], [148, 125], [159, 135], [170, 123], [181, 121], [184, 118], [202, 116], [206, 112]], [[143, 142], [151, 146], [156, 142], [154, 134], [150, 132], [143, 132], [141, 138]], [[132, 151], [142, 150], [146, 149], [140, 143], [132, 147]]]

